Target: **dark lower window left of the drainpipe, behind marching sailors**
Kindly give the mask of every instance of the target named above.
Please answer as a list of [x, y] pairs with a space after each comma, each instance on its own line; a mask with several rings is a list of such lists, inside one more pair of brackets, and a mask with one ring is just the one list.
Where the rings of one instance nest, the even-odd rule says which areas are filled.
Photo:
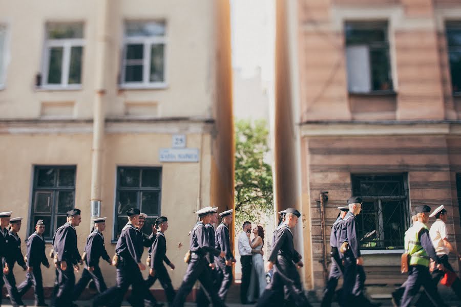
[[75, 166], [36, 166], [30, 233], [38, 220], [46, 225], [45, 238], [66, 223], [66, 212], [75, 205]]

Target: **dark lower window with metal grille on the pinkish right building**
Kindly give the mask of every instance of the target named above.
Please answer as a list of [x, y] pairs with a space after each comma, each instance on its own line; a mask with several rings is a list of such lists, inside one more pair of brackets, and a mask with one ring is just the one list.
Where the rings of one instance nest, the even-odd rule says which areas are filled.
[[409, 226], [405, 174], [352, 175], [352, 193], [362, 196], [357, 215], [362, 248], [403, 248]]

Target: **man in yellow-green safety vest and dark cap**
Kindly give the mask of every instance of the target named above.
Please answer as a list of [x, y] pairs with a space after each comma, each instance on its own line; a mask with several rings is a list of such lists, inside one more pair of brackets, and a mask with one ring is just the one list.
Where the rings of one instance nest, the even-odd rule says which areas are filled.
[[426, 223], [429, 221], [429, 206], [417, 206], [414, 211], [418, 217], [417, 222], [414, 222], [405, 235], [405, 248], [410, 255], [410, 267], [408, 270], [408, 278], [405, 282], [405, 292], [402, 297], [401, 306], [407, 307], [410, 305], [414, 296], [420, 291], [423, 286], [424, 290], [432, 301], [434, 306], [447, 306], [442, 297], [437, 292], [437, 285], [431, 278], [429, 273], [429, 262], [432, 258], [437, 268], [444, 271], [444, 266], [441, 259], [435, 253], [434, 246], [429, 235], [429, 229]]

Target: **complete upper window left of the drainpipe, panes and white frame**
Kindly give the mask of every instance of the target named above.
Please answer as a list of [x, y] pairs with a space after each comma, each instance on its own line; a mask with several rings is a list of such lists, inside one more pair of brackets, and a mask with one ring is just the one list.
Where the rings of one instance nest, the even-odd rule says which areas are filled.
[[47, 24], [42, 85], [79, 88], [83, 55], [83, 24]]

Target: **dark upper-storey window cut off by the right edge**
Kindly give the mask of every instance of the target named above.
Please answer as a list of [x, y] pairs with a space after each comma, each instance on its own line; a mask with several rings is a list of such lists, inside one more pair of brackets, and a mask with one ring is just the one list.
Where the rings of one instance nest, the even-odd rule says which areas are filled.
[[454, 94], [461, 95], [461, 21], [448, 22], [446, 29], [451, 87]]

